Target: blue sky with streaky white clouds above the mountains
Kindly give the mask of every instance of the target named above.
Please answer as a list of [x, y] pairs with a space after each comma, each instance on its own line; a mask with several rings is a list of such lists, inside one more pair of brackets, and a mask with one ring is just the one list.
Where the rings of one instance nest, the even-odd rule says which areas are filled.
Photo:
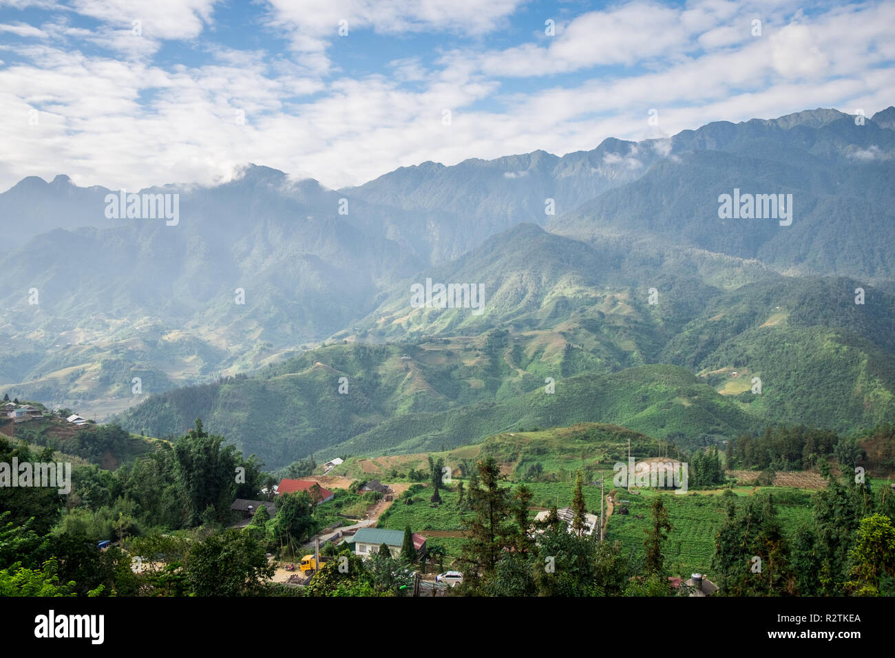
[[895, 104], [895, 0], [0, 0], [0, 190], [330, 188]]

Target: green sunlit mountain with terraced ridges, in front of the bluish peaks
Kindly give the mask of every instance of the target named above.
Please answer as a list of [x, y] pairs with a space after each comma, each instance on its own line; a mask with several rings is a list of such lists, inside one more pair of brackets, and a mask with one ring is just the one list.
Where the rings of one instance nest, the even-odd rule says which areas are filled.
[[[693, 445], [765, 423], [854, 432], [895, 420], [891, 295], [868, 287], [857, 305], [854, 280], [784, 278], [733, 258], [705, 271], [751, 282], [712, 286], [672, 263], [649, 244], [516, 226], [419, 275], [484, 282], [494, 293], [479, 316], [413, 308], [401, 284], [358, 331], [337, 334], [345, 345], [152, 397], [121, 420], [176, 434], [206, 418], [268, 466], [454, 447], [518, 424], [617, 423]], [[370, 344], [387, 339], [400, 342]]]

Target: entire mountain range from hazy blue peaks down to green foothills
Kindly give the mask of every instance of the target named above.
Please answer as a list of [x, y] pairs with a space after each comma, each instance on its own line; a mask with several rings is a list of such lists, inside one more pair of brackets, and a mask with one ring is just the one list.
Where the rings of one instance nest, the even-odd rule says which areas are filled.
[[[337, 191], [254, 165], [141, 191], [179, 195], [175, 226], [29, 177], [0, 194], [0, 389], [156, 436], [201, 417], [272, 467], [519, 424], [857, 432], [895, 420], [893, 158], [895, 107], [816, 109]], [[735, 193], [791, 223], [720, 217]], [[415, 307], [427, 279], [483, 312]]]

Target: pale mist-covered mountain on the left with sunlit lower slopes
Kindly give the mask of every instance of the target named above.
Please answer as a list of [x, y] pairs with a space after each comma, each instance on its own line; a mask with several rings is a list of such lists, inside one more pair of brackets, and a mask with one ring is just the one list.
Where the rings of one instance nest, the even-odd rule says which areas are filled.
[[[105, 216], [107, 190], [66, 186], [74, 216]], [[13, 188], [25, 207], [30, 187], [42, 189]], [[98, 371], [108, 358], [165, 372], [144, 382], [147, 393], [251, 369], [345, 327], [373, 307], [382, 286], [426, 262], [340, 216], [337, 192], [290, 183], [267, 167], [248, 167], [215, 188], [143, 192], [179, 194], [179, 221], [55, 228], [5, 252], [0, 384], [51, 404], [108, 402], [130, 394], [132, 380], [102, 386]], [[369, 209], [353, 205], [356, 213]]]

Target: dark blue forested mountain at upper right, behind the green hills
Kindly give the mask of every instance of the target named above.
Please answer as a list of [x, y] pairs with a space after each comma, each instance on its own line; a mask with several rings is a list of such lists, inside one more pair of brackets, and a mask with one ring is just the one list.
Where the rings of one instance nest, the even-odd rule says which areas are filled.
[[[584, 239], [650, 235], [790, 274], [895, 278], [895, 131], [849, 118], [818, 128], [748, 122], [710, 124], [674, 141], [676, 149], [713, 148], [673, 154], [635, 182], [556, 218], [550, 229]], [[791, 194], [791, 224], [781, 226], [788, 222], [782, 217], [720, 218], [720, 195], [735, 189]]]

